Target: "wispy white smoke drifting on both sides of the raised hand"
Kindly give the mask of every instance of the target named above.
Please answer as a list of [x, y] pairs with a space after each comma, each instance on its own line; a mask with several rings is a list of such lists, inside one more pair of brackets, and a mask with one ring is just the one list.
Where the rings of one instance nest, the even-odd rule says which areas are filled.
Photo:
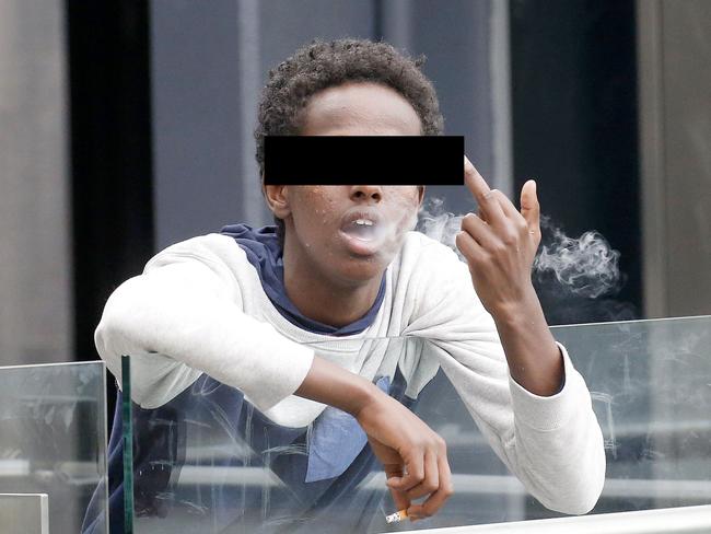
[[[444, 209], [443, 199], [430, 198], [429, 205], [424, 202], [420, 208], [416, 229], [448, 246], [462, 262], [466, 262], [455, 243], [462, 219], [464, 214]], [[620, 253], [613, 249], [599, 232], [588, 231], [578, 239], [569, 237], [546, 216], [541, 216], [540, 227], [544, 240], [534, 259], [534, 276], [540, 279], [552, 274], [568, 291], [590, 299], [619, 290]]]

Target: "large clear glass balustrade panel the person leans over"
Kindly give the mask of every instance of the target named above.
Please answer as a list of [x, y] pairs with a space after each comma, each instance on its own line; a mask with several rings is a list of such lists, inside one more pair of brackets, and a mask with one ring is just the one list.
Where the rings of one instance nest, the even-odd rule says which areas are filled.
[[[605, 437], [607, 480], [592, 513], [709, 502], [710, 326], [710, 317], [690, 317], [552, 329], [587, 382]], [[364, 343], [403, 351], [431, 341]], [[135, 531], [376, 533], [560, 515], [508, 473], [441, 370], [417, 399], [397, 374], [378, 385], [447, 442], [455, 495], [435, 516], [385, 522], [395, 504], [349, 416], [279, 427], [202, 375], [161, 408], [133, 405]], [[350, 441], [319, 455], [337, 436]]]

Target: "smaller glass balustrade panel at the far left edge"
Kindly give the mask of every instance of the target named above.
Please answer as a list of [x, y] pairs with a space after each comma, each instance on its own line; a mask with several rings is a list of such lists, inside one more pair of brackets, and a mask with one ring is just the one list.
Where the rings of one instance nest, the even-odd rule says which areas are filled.
[[47, 494], [50, 532], [81, 532], [88, 508], [108, 532], [105, 403], [101, 361], [0, 368], [0, 494]]

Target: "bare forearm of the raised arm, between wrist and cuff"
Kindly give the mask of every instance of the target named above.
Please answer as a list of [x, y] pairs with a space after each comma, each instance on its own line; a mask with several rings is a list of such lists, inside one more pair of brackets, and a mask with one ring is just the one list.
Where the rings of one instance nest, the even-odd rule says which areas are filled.
[[536, 395], [558, 393], [564, 379], [563, 359], [533, 287], [520, 305], [496, 312], [493, 320], [511, 376]]

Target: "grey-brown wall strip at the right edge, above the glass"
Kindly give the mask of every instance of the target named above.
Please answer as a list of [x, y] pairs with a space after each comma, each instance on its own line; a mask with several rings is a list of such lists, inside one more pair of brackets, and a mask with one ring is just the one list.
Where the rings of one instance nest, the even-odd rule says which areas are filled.
[[711, 2], [640, 0], [645, 311], [711, 314]]

